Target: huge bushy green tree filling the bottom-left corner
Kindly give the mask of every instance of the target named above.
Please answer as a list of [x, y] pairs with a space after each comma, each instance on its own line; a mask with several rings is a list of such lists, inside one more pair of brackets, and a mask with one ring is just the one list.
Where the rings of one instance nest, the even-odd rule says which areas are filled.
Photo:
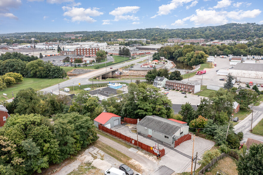
[[12, 115], [0, 133], [16, 144], [13, 149], [24, 160], [24, 172], [20, 174], [32, 174], [34, 171], [41, 173], [41, 168], [48, 168], [49, 163], [59, 160], [58, 141], [48, 118], [38, 114]]

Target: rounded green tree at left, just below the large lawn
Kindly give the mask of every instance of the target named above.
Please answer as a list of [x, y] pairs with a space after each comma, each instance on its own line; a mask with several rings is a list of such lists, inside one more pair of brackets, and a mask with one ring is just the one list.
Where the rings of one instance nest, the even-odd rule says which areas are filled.
[[39, 114], [41, 109], [37, 91], [31, 87], [19, 90], [12, 103], [16, 108], [14, 112], [18, 114]]

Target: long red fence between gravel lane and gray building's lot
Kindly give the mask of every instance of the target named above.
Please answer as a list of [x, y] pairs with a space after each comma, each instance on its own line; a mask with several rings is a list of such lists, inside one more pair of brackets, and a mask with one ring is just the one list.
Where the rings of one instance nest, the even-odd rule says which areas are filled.
[[[122, 139], [122, 140], [124, 140], [126, 142], [129, 142], [129, 143], [131, 143], [131, 144], [133, 144], [135, 146], [139, 146], [141, 149], [143, 149], [145, 151], [148, 151], [151, 154], [154, 154], [156, 156], [158, 154], [157, 153], [157, 149], [154, 149], [153, 147], [152, 147], [153, 149], [151, 149], [151, 146], [148, 146], [148, 145], [146, 145], [144, 143], [141, 143], [141, 142], [137, 142], [137, 140], [135, 140], [135, 139], [133, 139], [131, 137], [128, 137], [126, 135], [123, 135], [120, 132], [114, 131], [114, 130], [109, 129], [109, 128], [107, 128], [105, 126], [102, 126], [102, 125], [99, 125], [99, 129], [104, 131], [104, 132], [107, 132], [107, 133], [109, 133], [111, 135], [114, 135], [115, 137], [119, 137], [120, 139]], [[165, 155], [165, 149], [159, 149], [159, 154], [160, 154], [160, 157], [163, 157]]]

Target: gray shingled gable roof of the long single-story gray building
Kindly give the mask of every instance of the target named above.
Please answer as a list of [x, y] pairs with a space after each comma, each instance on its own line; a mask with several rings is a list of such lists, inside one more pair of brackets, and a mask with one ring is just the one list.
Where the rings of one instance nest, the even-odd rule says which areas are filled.
[[180, 126], [185, 127], [185, 125], [167, 120], [157, 115], [146, 115], [138, 122], [138, 124], [171, 137], [180, 129]]

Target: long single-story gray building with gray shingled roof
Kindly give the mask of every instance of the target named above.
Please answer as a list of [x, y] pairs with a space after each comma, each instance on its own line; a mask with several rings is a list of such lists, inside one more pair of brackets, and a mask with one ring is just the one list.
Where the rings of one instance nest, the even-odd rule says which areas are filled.
[[147, 115], [137, 123], [137, 132], [174, 145], [174, 140], [188, 134], [189, 126], [156, 115]]

